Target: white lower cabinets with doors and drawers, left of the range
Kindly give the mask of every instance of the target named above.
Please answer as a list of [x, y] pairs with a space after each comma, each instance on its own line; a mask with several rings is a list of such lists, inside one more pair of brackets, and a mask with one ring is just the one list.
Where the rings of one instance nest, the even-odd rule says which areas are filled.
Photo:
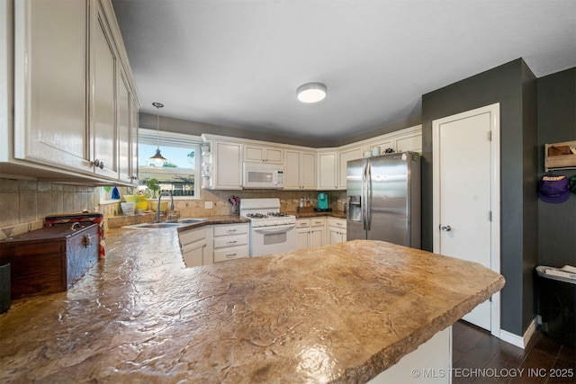
[[248, 257], [249, 224], [221, 224], [178, 233], [187, 267], [226, 262]]

